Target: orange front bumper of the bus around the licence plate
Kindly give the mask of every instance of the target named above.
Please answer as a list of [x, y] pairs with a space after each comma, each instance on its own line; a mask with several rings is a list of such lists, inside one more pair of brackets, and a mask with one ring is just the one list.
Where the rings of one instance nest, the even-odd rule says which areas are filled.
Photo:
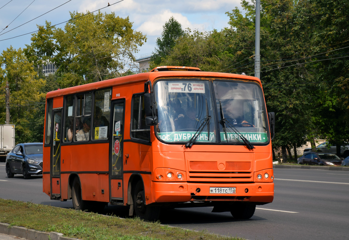
[[[233, 194], [213, 194], [213, 188], [232, 188]], [[247, 192], [246, 192], [247, 189]], [[155, 182], [153, 181], [155, 202], [210, 202], [210, 201], [239, 201], [271, 203], [274, 198], [273, 182], [258, 183], [188, 183], [188, 182]]]

